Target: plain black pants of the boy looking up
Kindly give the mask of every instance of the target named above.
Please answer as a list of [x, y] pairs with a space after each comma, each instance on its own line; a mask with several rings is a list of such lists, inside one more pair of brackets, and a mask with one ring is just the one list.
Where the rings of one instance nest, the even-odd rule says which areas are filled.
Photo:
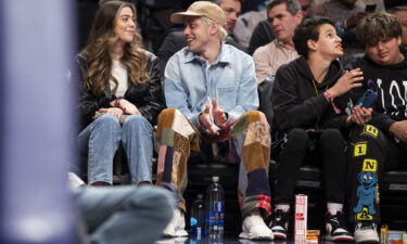
[[345, 139], [338, 129], [291, 130], [279, 158], [275, 202], [291, 203], [300, 167], [306, 162], [323, 167], [327, 202], [343, 203], [346, 194], [345, 146]]

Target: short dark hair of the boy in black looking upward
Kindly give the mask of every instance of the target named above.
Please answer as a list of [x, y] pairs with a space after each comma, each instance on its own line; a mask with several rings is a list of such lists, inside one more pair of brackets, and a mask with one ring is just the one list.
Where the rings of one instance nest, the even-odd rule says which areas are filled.
[[319, 27], [323, 24], [335, 26], [332, 21], [327, 17], [311, 17], [300, 24], [294, 31], [293, 42], [296, 52], [308, 59], [308, 40], [317, 41], [319, 38]]

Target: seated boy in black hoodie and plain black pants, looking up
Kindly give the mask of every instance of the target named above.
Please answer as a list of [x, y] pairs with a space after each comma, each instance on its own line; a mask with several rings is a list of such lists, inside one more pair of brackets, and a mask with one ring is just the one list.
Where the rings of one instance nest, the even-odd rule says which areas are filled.
[[307, 160], [323, 168], [327, 240], [353, 241], [343, 214], [346, 142], [341, 131], [368, 121], [371, 111], [356, 107], [347, 115], [346, 102], [338, 101], [361, 86], [363, 73], [342, 69], [338, 61], [343, 55], [341, 38], [328, 18], [305, 20], [295, 29], [293, 41], [301, 57], [278, 69], [271, 97], [276, 127], [284, 134], [271, 230], [276, 239], [287, 239], [295, 182]]

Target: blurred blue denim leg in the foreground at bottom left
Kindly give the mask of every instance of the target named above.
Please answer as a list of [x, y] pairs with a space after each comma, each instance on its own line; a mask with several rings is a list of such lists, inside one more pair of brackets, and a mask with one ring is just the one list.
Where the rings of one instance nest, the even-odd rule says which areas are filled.
[[152, 244], [174, 211], [170, 193], [155, 187], [78, 188], [74, 204], [96, 244]]

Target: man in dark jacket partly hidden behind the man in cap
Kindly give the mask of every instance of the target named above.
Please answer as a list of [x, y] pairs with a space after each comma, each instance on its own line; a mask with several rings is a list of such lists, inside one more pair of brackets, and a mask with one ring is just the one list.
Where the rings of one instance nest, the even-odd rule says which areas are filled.
[[[233, 38], [236, 22], [241, 12], [241, 0], [213, 0], [212, 2], [218, 4], [224, 11], [226, 17], [225, 29], [228, 31], [228, 36], [225, 39], [226, 43], [231, 44], [242, 51], [246, 51], [246, 49], [240, 46]], [[182, 30], [176, 30], [168, 34], [157, 52], [162, 76], [164, 76], [165, 65], [167, 64], [169, 57], [186, 46], [187, 40]]]

